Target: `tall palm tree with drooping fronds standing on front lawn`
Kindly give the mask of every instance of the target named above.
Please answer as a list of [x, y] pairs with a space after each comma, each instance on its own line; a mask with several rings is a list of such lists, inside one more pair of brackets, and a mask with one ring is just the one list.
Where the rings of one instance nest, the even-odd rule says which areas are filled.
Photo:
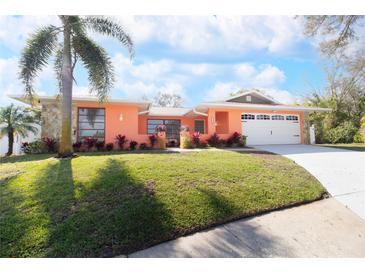
[[[90, 93], [99, 101], [105, 101], [114, 83], [114, 69], [104, 48], [87, 35], [87, 30], [116, 38], [127, 47], [133, 56], [133, 42], [123, 28], [111, 19], [100, 16], [60, 15], [60, 26], [49, 25], [37, 30], [27, 41], [20, 59], [20, 78], [25, 85], [25, 95], [34, 100], [33, 81], [52, 54], [55, 55], [54, 69], [59, 83], [61, 99], [60, 157], [72, 155], [72, 85], [77, 60], [88, 71]], [[62, 34], [63, 41], [58, 43]]]

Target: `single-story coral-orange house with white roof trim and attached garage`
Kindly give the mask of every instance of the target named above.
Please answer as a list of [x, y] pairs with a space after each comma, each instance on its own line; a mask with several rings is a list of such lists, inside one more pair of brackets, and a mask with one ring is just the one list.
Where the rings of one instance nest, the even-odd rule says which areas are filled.
[[[12, 97], [23, 101], [21, 96]], [[59, 138], [60, 111], [57, 97], [41, 96], [42, 137]], [[179, 140], [181, 126], [198, 131], [206, 139], [213, 133], [228, 138], [239, 132], [248, 145], [309, 143], [308, 114], [329, 109], [283, 105], [257, 91], [249, 91], [223, 101], [206, 102], [194, 108], [153, 107], [151, 102], [96, 98], [73, 98], [73, 141], [97, 136], [115, 142], [117, 134], [139, 143], [158, 125], [167, 128], [167, 138]]]

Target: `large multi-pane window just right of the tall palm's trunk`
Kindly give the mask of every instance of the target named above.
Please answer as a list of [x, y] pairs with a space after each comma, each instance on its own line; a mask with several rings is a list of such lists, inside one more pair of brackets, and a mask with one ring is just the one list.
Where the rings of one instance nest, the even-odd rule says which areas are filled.
[[105, 109], [79, 108], [78, 112], [78, 140], [94, 137], [100, 141], [105, 138]]

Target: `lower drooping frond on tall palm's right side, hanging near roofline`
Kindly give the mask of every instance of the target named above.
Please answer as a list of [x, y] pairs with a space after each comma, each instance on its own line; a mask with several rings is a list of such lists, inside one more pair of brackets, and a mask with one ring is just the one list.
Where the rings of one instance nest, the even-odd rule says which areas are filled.
[[114, 68], [107, 52], [83, 35], [72, 37], [72, 46], [88, 70], [91, 93], [105, 101], [114, 83]]

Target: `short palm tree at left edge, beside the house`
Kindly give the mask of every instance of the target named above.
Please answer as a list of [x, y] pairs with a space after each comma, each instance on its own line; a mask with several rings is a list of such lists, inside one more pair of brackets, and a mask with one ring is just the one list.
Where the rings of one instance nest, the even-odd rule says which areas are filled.
[[0, 137], [8, 135], [7, 156], [13, 154], [14, 136], [27, 137], [29, 132], [37, 133], [34, 124], [39, 122], [39, 112], [29, 108], [14, 106], [0, 108]]

